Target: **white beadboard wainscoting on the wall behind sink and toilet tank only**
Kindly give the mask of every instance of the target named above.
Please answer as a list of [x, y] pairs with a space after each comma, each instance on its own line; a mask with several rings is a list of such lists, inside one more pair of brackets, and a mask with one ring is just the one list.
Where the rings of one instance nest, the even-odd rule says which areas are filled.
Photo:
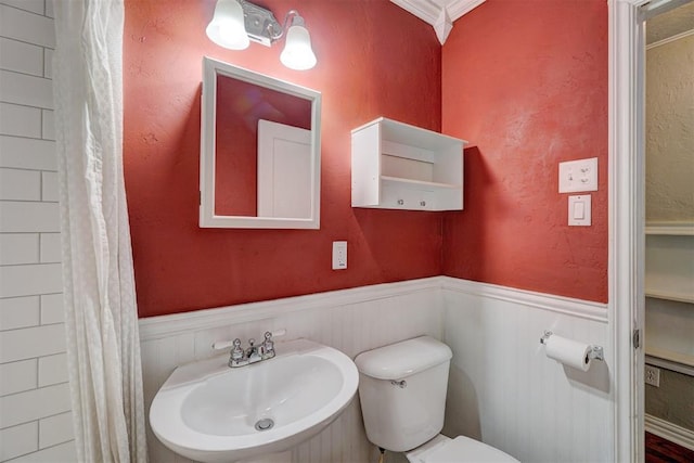
[[[146, 411], [177, 365], [208, 358], [215, 340], [260, 338], [267, 330], [286, 330], [278, 338], [299, 337], [332, 346], [355, 358], [359, 352], [428, 334], [442, 335], [440, 279], [364, 286], [273, 301], [254, 303], [140, 321]], [[226, 353], [224, 353], [226, 355]], [[314, 438], [295, 447], [294, 463], [368, 462], [377, 450], [365, 437], [358, 397]], [[149, 432], [150, 459], [188, 462]], [[286, 455], [288, 456], [288, 455]]]

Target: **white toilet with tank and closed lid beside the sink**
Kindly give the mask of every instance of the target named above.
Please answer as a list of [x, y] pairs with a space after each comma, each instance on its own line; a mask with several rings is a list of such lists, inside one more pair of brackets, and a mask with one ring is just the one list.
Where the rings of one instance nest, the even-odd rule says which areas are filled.
[[451, 349], [420, 336], [360, 353], [359, 398], [369, 440], [412, 463], [516, 462], [499, 449], [441, 434]]

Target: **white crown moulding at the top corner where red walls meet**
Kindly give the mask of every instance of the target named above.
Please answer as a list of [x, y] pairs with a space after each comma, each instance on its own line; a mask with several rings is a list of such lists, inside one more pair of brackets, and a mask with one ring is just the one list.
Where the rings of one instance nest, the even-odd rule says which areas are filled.
[[444, 44], [453, 22], [485, 0], [390, 0], [398, 7], [434, 26], [436, 37]]

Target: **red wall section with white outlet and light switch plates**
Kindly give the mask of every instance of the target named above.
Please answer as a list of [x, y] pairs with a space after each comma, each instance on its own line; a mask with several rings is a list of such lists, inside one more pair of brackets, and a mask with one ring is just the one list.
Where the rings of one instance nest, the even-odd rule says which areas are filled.
[[[488, 0], [442, 51], [442, 129], [470, 140], [444, 273], [607, 300], [607, 3]], [[599, 158], [592, 227], [568, 227], [558, 163]]]

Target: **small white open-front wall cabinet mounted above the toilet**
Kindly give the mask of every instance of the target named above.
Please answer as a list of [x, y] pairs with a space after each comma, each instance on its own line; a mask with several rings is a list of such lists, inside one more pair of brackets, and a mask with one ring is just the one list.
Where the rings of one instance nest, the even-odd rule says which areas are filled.
[[465, 143], [384, 117], [352, 130], [352, 207], [462, 210]]

